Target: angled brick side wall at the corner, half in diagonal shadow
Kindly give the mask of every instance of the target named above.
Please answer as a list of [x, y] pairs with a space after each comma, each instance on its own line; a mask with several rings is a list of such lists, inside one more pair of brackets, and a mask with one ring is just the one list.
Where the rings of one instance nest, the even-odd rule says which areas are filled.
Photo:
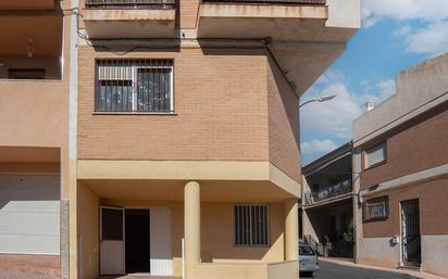
[[299, 109], [278, 68], [267, 64], [270, 161], [296, 181], [300, 181]]

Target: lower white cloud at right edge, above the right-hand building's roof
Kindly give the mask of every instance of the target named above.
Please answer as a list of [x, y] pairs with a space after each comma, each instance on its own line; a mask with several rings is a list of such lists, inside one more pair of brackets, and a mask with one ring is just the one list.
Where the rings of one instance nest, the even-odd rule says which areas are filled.
[[[447, 1], [448, 2], [448, 1]], [[414, 53], [441, 54], [448, 51], [448, 21], [428, 24], [406, 37], [407, 51]]]

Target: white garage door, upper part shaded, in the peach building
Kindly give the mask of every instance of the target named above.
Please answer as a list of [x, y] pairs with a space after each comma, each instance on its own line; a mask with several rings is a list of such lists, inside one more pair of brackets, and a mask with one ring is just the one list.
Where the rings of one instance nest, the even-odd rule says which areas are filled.
[[0, 175], [0, 253], [60, 254], [60, 177]]

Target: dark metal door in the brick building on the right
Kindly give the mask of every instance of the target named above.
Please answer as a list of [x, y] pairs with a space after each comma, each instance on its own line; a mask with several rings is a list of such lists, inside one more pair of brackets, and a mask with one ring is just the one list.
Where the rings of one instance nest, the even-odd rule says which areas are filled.
[[421, 240], [419, 200], [401, 202], [402, 262], [407, 266], [420, 266]]

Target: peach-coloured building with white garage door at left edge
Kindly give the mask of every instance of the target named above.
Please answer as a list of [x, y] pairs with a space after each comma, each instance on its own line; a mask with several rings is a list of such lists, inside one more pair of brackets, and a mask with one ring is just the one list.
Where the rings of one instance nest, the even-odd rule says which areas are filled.
[[0, 3], [4, 278], [69, 278], [69, 0]]

